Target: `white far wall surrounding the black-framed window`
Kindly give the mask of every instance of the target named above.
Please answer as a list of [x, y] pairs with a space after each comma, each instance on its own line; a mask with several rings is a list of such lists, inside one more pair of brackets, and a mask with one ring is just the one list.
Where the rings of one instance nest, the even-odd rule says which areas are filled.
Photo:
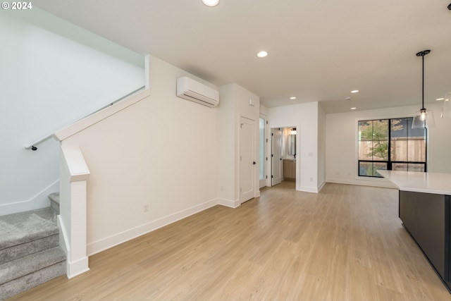
[[[435, 116], [428, 129], [428, 171], [451, 173], [451, 118], [440, 119], [440, 104], [427, 104]], [[357, 121], [413, 116], [419, 106], [326, 115], [326, 180], [334, 183], [393, 187], [385, 179], [357, 176]]]

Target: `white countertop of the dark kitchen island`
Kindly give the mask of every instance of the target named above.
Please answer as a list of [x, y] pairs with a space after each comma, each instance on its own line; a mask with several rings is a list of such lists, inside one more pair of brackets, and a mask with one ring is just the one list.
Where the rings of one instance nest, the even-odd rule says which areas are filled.
[[418, 171], [378, 171], [400, 190], [451, 195], [451, 173]]

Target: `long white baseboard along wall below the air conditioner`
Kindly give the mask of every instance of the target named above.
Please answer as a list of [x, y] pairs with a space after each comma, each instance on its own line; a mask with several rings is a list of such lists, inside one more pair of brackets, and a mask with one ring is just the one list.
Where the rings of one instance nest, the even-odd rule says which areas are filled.
[[155, 221], [144, 223], [141, 226], [131, 228], [127, 231], [111, 235], [107, 238], [103, 238], [95, 242], [89, 242], [87, 244], [87, 255], [90, 256], [92, 254], [96, 254], [106, 249], [109, 249], [110, 247], [114, 247], [115, 245], [120, 245], [123, 242], [132, 240], [133, 238], [137, 238], [146, 233], [155, 231], [156, 229], [166, 226], [170, 223], [174, 223], [175, 221], [179, 221], [180, 219], [185, 219], [185, 217], [187, 216], [196, 214], [197, 212], [203, 211], [210, 207], [214, 207], [216, 204], [218, 204], [218, 199], [211, 199], [208, 202], [204, 202], [194, 207], [175, 212], [174, 214], [169, 214], [168, 216], [164, 216], [161, 219], [156, 219]]

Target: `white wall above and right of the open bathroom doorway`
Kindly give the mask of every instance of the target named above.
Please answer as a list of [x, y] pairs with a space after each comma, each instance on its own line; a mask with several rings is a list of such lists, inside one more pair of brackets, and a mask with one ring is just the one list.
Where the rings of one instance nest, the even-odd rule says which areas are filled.
[[296, 126], [296, 189], [319, 192], [323, 181], [319, 178], [319, 105], [317, 102], [279, 106], [268, 109], [270, 128]]

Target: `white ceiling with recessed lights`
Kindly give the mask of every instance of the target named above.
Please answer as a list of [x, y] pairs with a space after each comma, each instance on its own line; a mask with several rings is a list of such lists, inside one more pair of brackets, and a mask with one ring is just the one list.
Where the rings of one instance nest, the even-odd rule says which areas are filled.
[[[451, 92], [451, 0], [37, 0], [56, 16], [268, 106], [425, 106]], [[257, 59], [257, 51], [268, 51]], [[351, 90], [360, 90], [350, 94]], [[296, 100], [289, 97], [295, 96]], [[351, 100], [345, 100], [352, 97]]]

